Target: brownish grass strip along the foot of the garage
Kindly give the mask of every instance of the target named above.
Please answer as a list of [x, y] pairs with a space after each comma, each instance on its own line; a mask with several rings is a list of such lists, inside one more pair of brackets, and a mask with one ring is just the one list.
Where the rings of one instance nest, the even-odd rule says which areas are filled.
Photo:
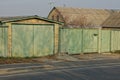
[[56, 59], [56, 55], [44, 57], [0, 57], [0, 64], [14, 64], [14, 63], [43, 63], [46, 59]]

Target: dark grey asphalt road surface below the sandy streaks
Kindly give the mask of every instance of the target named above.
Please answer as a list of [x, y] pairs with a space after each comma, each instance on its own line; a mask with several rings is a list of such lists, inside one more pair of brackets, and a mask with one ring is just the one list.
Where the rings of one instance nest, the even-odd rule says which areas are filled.
[[0, 77], [1, 80], [120, 80], [120, 65], [32, 72]]

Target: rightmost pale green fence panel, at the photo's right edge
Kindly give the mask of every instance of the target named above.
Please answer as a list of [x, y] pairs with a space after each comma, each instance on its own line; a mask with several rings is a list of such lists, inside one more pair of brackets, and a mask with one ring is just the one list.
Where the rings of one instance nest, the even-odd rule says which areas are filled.
[[111, 51], [120, 51], [120, 30], [111, 32]]

